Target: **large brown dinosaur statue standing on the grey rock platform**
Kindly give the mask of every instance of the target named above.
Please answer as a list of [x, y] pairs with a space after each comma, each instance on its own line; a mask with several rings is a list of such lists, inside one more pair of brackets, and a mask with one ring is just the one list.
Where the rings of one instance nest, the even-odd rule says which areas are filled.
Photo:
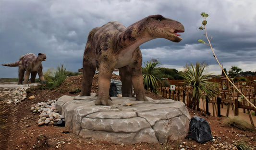
[[177, 32], [184, 32], [183, 25], [161, 15], [148, 16], [129, 27], [110, 21], [89, 32], [83, 57], [83, 81], [80, 96], [90, 96], [92, 79], [98, 68], [98, 99], [96, 105], [111, 105], [108, 101], [110, 78], [118, 68], [122, 81], [122, 96], [147, 101], [141, 71], [142, 54], [139, 45], [155, 38], [180, 42]]

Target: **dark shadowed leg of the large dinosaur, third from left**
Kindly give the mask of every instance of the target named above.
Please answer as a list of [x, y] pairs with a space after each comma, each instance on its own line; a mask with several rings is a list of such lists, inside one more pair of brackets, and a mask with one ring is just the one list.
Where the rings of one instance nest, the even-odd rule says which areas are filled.
[[122, 81], [122, 96], [123, 97], [132, 97], [132, 77], [129, 66], [124, 66], [119, 68], [119, 73]]

